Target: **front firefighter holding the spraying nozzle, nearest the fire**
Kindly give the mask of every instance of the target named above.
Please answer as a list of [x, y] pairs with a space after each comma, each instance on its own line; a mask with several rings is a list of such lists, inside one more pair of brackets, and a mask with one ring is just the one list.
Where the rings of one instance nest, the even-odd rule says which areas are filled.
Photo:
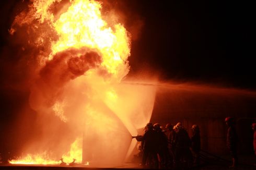
[[[137, 136], [137, 141], [143, 142], [143, 155], [142, 155], [142, 166], [158, 168], [158, 159], [157, 159], [157, 147], [158, 139], [157, 133], [153, 129], [153, 124], [148, 123], [146, 125], [146, 131], [143, 136]], [[146, 164], [147, 163], [147, 164]]]

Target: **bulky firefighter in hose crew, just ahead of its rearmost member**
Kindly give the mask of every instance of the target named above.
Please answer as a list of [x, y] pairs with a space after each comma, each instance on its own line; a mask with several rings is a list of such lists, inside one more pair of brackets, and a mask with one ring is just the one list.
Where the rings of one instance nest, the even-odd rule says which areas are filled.
[[181, 123], [173, 127], [176, 130], [174, 139], [175, 147], [175, 164], [176, 168], [181, 168], [181, 161], [184, 168], [190, 167], [193, 161], [193, 156], [190, 151], [191, 141], [188, 132], [184, 129]]

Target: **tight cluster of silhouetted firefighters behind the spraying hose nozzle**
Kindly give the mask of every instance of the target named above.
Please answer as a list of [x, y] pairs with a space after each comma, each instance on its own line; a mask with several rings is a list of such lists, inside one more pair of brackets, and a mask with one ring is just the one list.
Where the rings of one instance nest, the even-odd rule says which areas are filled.
[[[199, 163], [200, 130], [192, 126], [190, 138], [181, 123], [175, 126], [148, 123], [143, 136], [136, 136], [141, 141], [142, 166], [148, 168], [191, 167]], [[192, 152], [191, 152], [191, 150]]]

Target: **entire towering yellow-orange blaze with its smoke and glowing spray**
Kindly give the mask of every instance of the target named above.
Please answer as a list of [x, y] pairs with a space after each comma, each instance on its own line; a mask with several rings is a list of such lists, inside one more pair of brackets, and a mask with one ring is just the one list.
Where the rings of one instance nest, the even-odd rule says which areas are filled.
[[43, 128], [10, 163], [60, 164], [62, 158], [112, 166], [134, 148], [131, 135], [149, 122], [155, 88], [121, 82], [129, 72], [130, 34], [121, 23], [104, 21], [101, 8], [98, 1], [34, 0], [15, 17], [10, 34], [26, 30], [22, 49], [37, 49], [30, 106]]

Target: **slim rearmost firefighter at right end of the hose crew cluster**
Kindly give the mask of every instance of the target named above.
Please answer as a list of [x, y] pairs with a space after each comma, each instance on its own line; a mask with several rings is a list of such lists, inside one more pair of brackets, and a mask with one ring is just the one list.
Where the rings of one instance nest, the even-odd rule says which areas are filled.
[[201, 138], [199, 126], [192, 126], [191, 148], [194, 154], [194, 163], [199, 165], [199, 152], [201, 150]]

